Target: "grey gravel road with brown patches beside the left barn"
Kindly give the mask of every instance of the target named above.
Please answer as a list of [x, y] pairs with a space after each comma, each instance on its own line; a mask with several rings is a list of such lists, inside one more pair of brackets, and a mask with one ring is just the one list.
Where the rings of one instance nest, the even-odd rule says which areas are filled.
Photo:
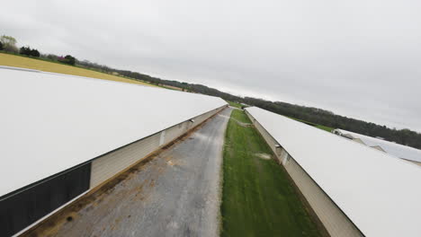
[[55, 236], [218, 236], [220, 170], [231, 108], [159, 154]]

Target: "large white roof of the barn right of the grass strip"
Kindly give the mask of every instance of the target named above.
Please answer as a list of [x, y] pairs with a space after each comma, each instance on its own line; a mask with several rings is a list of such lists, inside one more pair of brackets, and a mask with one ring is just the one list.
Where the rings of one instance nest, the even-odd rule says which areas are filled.
[[316, 127], [246, 109], [365, 236], [421, 236], [421, 171]]

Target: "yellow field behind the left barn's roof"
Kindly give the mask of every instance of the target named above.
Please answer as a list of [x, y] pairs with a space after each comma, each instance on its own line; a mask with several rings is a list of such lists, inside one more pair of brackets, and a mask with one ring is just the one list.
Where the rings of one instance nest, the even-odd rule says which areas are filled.
[[0, 53], [0, 66], [16, 66], [31, 68], [45, 72], [58, 73], [58, 74], [67, 74], [67, 75], [80, 75], [86, 77], [93, 77], [98, 79], [122, 82], [122, 83], [138, 83], [143, 85], [152, 86], [148, 83], [140, 83], [135, 80], [130, 80], [117, 75], [108, 75], [103, 74], [76, 66], [67, 66], [56, 63], [50, 63], [38, 59], [33, 59], [29, 57], [19, 57], [9, 54]]

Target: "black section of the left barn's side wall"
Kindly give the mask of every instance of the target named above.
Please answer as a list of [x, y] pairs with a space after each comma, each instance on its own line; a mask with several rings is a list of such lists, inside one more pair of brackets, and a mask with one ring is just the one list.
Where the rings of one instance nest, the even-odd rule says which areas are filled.
[[18, 233], [85, 192], [89, 189], [90, 176], [91, 162], [88, 162], [1, 200], [0, 236]]

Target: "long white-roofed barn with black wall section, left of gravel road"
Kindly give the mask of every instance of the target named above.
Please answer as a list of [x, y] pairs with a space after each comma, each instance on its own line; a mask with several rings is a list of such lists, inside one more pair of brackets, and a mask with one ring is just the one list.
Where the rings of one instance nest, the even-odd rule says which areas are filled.
[[0, 78], [0, 236], [22, 232], [227, 106], [18, 68], [0, 68]]

